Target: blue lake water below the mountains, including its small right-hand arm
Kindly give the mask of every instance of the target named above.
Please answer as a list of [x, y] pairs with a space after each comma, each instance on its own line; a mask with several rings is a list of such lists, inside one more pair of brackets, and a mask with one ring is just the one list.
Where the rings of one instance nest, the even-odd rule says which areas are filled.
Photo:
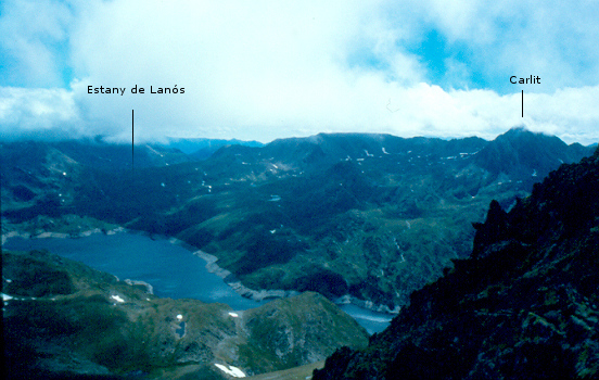
[[[221, 302], [233, 309], [257, 307], [256, 302], [239, 295], [222, 279], [206, 269], [206, 262], [181, 245], [166, 239], [150, 239], [137, 233], [94, 233], [77, 239], [9, 239], [3, 249], [48, 250], [51, 253], [84, 263], [119, 279], [145, 281], [154, 294], [170, 299], [195, 299]], [[391, 320], [387, 314], [355, 305], [340, 305], [370, 333], [382, 331]]]

